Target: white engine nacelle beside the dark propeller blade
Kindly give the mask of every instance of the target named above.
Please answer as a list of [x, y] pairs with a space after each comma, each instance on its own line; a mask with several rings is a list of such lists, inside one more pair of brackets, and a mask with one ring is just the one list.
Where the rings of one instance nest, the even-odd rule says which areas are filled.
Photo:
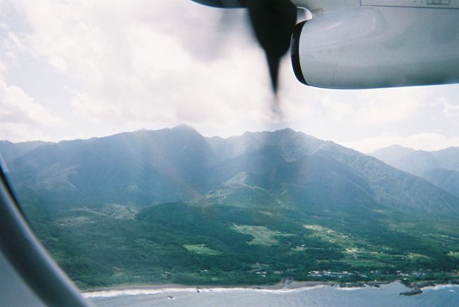
[[361, 6], [299, 23], [298, 80], [320, 88], [459, 83], [459, 10]]

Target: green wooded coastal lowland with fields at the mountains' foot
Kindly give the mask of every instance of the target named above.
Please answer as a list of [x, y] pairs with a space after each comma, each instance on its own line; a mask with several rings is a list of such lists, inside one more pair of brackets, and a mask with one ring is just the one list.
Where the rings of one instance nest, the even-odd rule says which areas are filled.
[[154, 205], [135, 214], [119, 205], [47, 215], [27, 209], [44, 245], [84, 289], [130, 283], [269, 284], [287, 277], [419, 280], [452, 278], [451, 271], [459, 268], [453, 222], [427, 232], [395, 221], [387, 227], [356, 217], [342, 224], [333, 216], [314, 218], [289, 209], [266, 215], [253, 207], [187, 203]]

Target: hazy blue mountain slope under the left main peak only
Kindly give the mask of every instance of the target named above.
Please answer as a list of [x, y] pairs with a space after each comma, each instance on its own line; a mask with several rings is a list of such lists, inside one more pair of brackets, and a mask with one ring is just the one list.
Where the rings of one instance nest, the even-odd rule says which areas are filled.
[[54, 205], [150, 205], [204, 193], [203, 169], [212, 160], [205, 139], [178, 126], [45, 145], [8, 165], [29, 199], [37, 194]]

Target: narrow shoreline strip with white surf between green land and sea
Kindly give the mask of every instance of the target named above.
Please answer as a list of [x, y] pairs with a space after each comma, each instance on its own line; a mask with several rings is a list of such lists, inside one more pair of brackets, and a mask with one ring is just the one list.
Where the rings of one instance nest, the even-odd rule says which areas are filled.
[[334, 287], [342, 290], [364, 289], [366, 287], [381, 287], [383, 284], [399, 282], [408, 288], [407, 291], [400, 292], [403, 296], [422, 294], [426, 289], [436, 287], [459, 287], [459, 280], [428, 280], [422, 282], [403, 283], [400, 279], [379, 282], [278, 282], [277, 284], [241, 284], [241, 285], [186, 285], [186, 284], [125, 284], [113, 287], [100, 287], [96, 289], [84, 289], [81, 291], [85, 298], [109, 297], [120, 295], [138, 294], [160, 294], [164, 292], [218, 292], [218, 291], [268, 291], [268, 292], [289, 292], [306, 291], [317, 287]]

